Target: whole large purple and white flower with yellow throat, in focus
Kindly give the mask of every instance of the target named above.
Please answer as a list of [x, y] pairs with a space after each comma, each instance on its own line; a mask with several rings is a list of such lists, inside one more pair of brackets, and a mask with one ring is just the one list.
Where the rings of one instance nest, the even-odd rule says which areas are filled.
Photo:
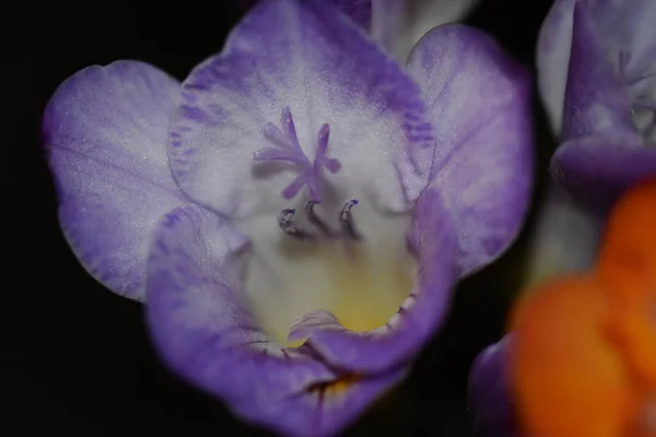
[[81, 263], [144, 299], [176, 374], [246, 421], [330, 435], [408, 371], [531, 180], [528, 81], [445, 25], [401, 68], [323, 1], [263, 1], [183, 84], [68, 79], [44, 137]]

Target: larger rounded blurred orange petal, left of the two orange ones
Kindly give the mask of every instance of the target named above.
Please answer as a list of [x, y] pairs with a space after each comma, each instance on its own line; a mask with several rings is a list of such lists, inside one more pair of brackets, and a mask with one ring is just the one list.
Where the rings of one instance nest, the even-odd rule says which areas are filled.
[[635, 402], [621, 357], [604, 334], [608, 300], [591, 276], [528, 292], [513, 318], [509, 370], [531, 437], [622, 437]]

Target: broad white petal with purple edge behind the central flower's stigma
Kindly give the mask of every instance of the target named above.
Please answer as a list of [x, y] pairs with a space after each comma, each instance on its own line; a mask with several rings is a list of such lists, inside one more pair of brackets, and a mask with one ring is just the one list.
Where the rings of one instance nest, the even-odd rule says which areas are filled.
[[281, 114], [293, 117], [295, 131], [283, 130], [311, 162], [329, 125], [328, 157], [341, 168], [323, 180], [337, 198], [400, 211], [427, 181], [434, 138], [421, 91], [329, 3], [257, 4], [183, 88], [172, 168], [190, 198], [223, 214], [277, 213], [281, 191], [304, 170], [254, 166], [253, 154], [271, 145], [263, 129]]

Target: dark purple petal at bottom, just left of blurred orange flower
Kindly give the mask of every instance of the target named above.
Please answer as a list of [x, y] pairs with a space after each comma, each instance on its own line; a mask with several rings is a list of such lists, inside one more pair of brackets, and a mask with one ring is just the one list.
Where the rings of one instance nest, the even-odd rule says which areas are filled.
[[477, 437], [520, 437], [506, 375], [512, 334], [483, 350], [469, 373], [468, 404]]

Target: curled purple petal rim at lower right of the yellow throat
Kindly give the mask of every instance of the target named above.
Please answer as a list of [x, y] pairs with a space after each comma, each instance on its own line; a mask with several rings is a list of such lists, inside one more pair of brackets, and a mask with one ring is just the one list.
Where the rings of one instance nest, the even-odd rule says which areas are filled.
[[417, 283], [386, 326], [354, 332], [329, 312], [314, 311], [296, 321], [290, 338], [308, 336], [307, 342], [326, 361], [354, 371], [383, 371], [412, 361], [444, 320], [457, 280], [450, 215], [435, 190], [424, 190], [417, 201], [410, 246], [419, 259]]

